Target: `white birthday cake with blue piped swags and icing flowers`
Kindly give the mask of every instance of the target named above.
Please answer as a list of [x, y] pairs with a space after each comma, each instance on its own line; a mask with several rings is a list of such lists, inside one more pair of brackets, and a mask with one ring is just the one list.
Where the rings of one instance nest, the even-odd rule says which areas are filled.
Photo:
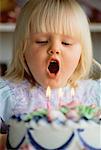
[[101, 150], [100, 108], [79, 105], [58, 110], [39, 108], [9, 120], [8, 149]]

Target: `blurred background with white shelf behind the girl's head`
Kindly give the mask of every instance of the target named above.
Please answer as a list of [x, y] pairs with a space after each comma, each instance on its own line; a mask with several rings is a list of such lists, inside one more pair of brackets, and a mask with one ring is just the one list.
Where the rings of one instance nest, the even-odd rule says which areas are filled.
[[[0, 76], [12, 59], [13, 34], [21, 7], [28, 0], [0, 0]], [[94, 58], [101, 63], [101, 0], [77, 0], [90, 20]]]

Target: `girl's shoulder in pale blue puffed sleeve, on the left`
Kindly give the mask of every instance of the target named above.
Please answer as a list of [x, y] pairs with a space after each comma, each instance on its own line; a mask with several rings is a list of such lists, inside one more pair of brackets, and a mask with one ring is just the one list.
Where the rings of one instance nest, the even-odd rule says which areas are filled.
[[11, 115], [20, 109], [20, 103], [25, 99], [27, 89], [25, 81], [22, 83], [13, 83], [0, 78], [0, 117], [7, 120]]

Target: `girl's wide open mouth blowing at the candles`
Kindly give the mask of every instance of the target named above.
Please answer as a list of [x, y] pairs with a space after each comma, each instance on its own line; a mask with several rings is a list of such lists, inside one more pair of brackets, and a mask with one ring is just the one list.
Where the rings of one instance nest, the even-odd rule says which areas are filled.
[[59, 61], [57, 59], [51, 59], [48, 65], [48, 74], [50, 77], [55, 77], [59, 72]]

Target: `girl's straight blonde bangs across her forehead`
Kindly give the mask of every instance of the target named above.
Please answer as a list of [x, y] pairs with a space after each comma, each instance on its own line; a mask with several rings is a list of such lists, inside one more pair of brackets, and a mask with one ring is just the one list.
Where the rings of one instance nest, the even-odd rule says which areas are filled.
[[[31, 31], [51, 32], [65, 34], [72, 37], [79, 37], [79, 28], [74, 14], [67, 12], [67, 9], [61, 6], [53, 8], [45, 7], [33, 14], [31, 20]], [[76, 23], [75, 23], [76, 22]]]

